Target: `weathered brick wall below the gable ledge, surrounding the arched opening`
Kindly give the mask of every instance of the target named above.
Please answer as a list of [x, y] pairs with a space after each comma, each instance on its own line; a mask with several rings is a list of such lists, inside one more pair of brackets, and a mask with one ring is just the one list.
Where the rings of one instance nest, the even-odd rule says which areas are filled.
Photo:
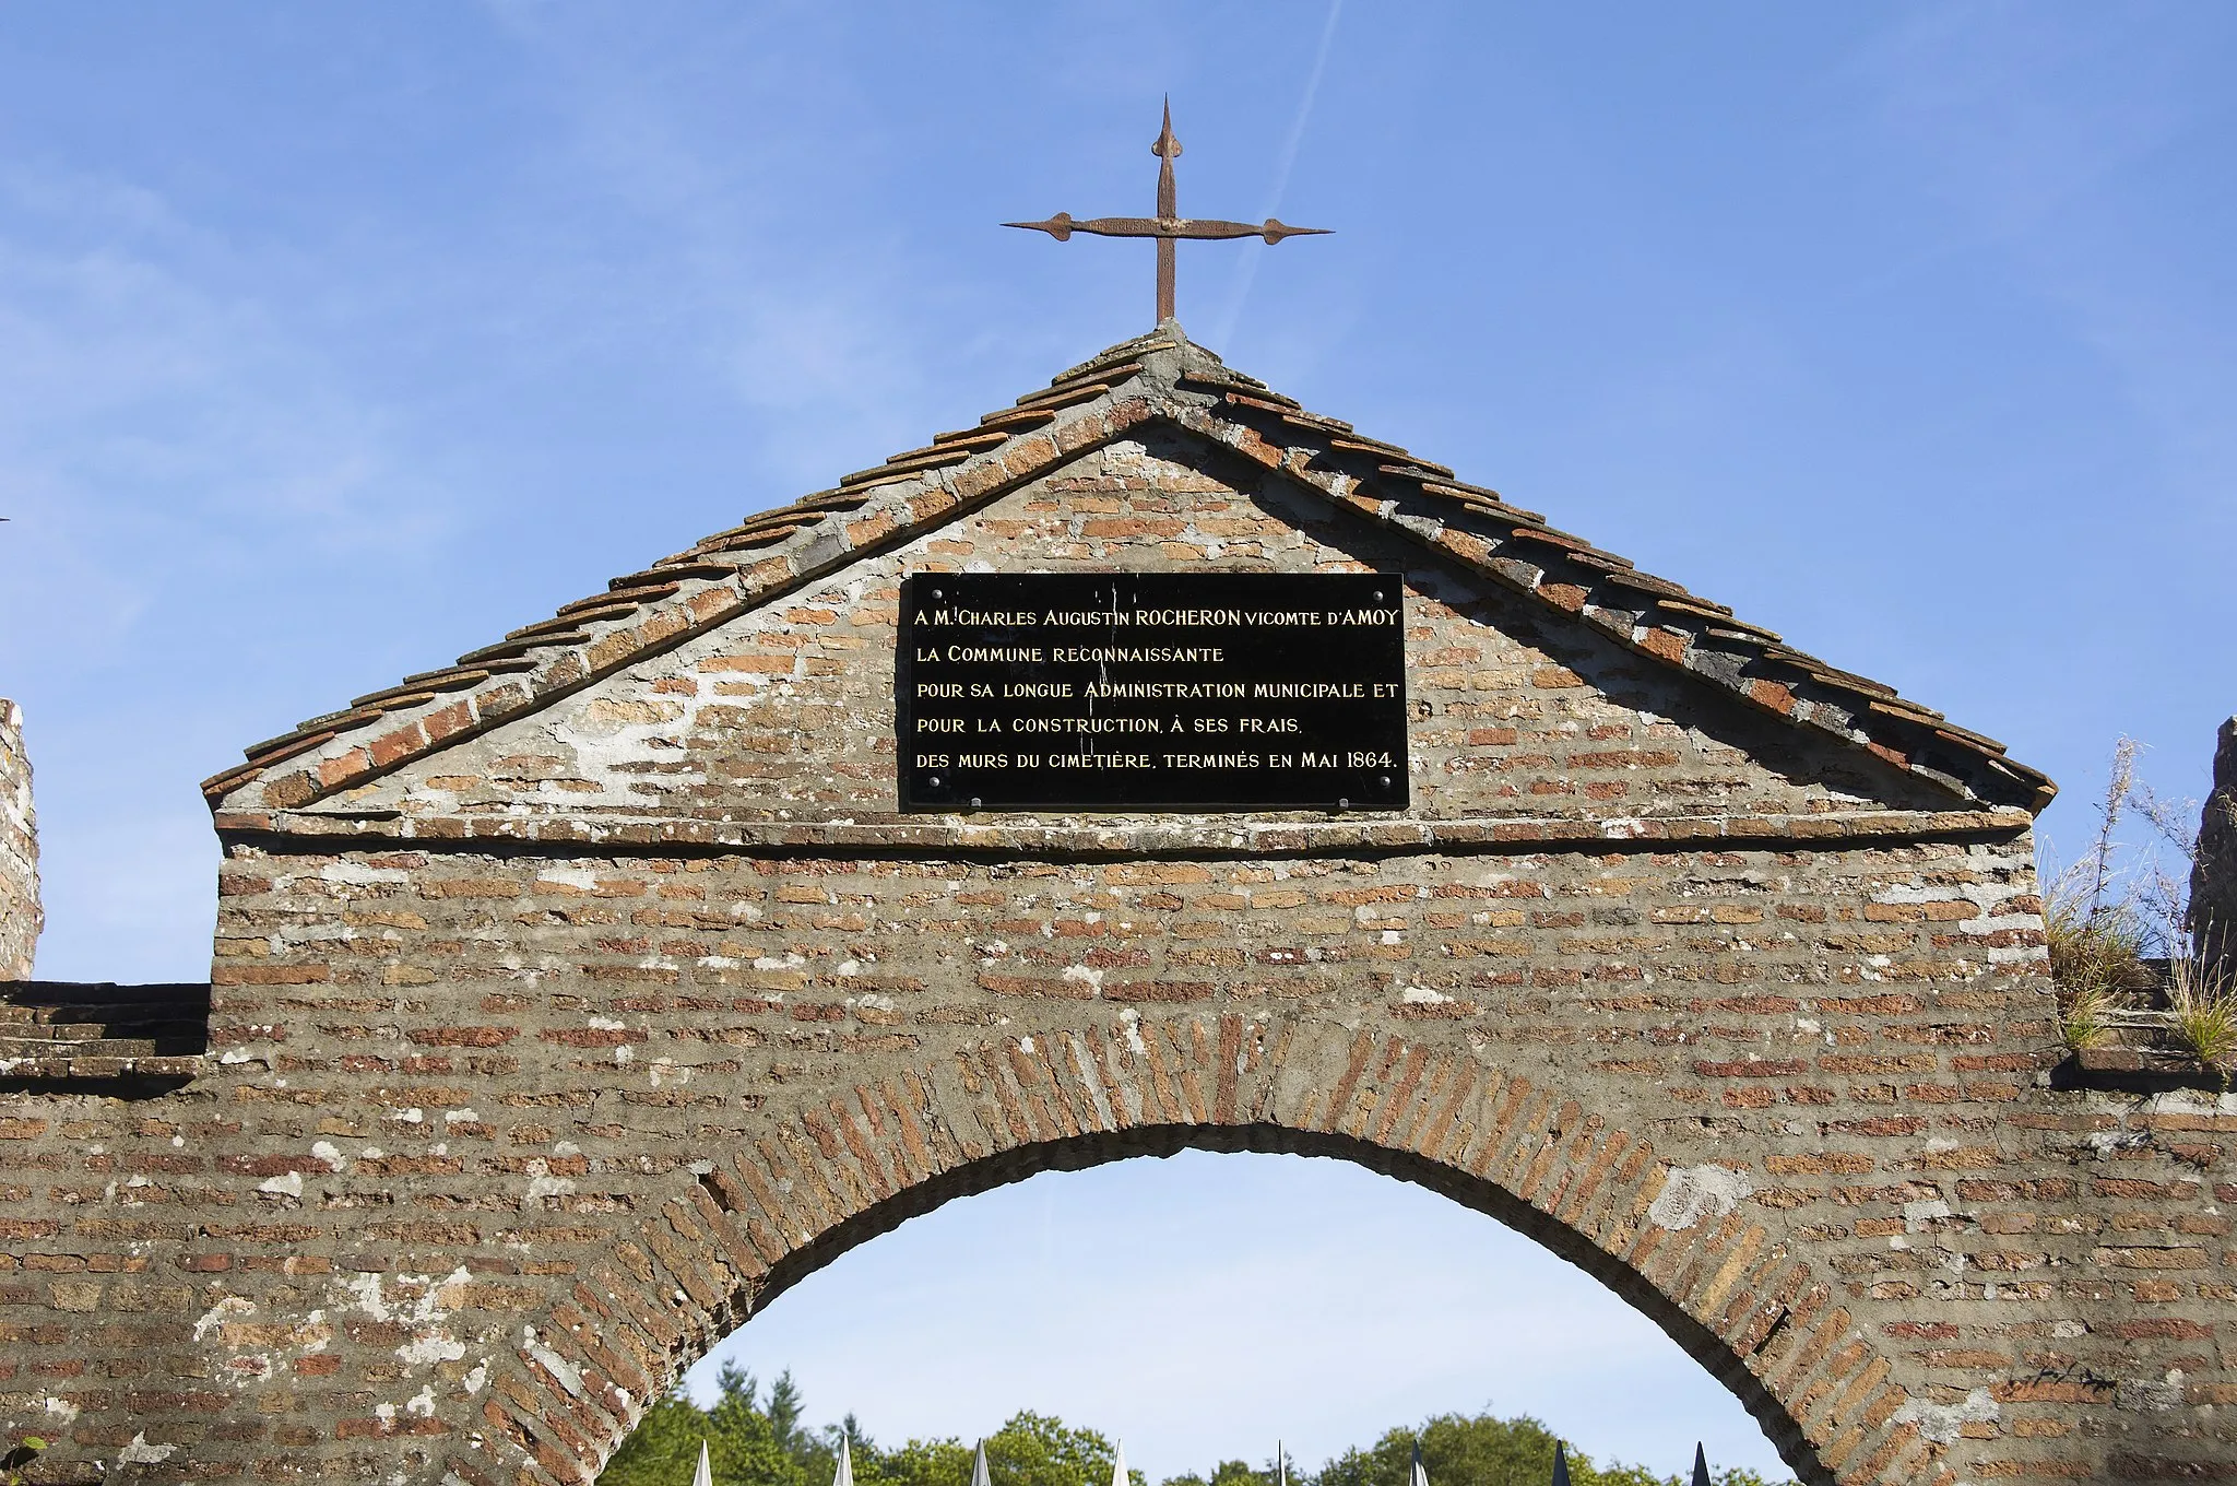
[[1995, 953], [2031, 938], [2024, 839], [235, 848], [221, 902], [210, 1074], [0, 1126], [0, 1388], [94, 1457], [573, 1479], [843, 1247], [1179, 1146], [1344, 1155], [1517, 1222], [1805, 1479], [2210, 1479], [2150, 1461], [2230, 1450], [2237, 1108], [2042, 1088], [2047, 996]]

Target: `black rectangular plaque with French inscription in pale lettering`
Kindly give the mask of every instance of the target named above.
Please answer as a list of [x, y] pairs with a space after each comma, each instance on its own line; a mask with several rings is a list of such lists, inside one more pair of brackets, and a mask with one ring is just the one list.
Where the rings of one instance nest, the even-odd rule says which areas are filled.
[[1382, 573], [917, 573], [904, 810], [1403, 810]]

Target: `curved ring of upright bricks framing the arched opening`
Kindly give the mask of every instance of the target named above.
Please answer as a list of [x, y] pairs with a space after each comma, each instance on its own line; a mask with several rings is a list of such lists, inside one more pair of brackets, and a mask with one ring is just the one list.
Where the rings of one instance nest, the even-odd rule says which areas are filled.
[[[1333, 1076], [1331, 1076], [1331, 1070]], [[644, 1408], [778, 1294], [955, 1197], [1141, 1155], [1349, 1159], [1579, 1264], [1725, 1383], [1810, 1486], [1946, 1482], [1895, 1363], [1740, 1206], [1667, 1229], [1644, 1137], [1459, 1038], [1302, 1016], [1004, 1027], [924, 1068], [774, 1106], [689, 1164], [523, 1332], [454, 1450], [463, 1486], [591, 1482]]]

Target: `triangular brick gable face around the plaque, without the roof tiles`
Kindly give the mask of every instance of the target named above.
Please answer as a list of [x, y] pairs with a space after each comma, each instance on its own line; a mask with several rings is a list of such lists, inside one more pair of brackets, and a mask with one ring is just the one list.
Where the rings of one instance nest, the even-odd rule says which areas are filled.
[[[987, 566], [1403, 573], [1412, 819], [1606, 826], [1951, 803], [1937, 786], [1796, 734], [1566, 615], [1548, 624], [1521, 595], [1286, 477], [1206, 454], [1217, 450], [1197, 434], [1141, 427], [783, 602], [416, 759], [340, 806], [407, 828], [479, 819], [510, 830], [532, 819], [615, 830], [893, 812], [902, 577]], [[1174, 741], [1183, 736], [1177, 727]]]

